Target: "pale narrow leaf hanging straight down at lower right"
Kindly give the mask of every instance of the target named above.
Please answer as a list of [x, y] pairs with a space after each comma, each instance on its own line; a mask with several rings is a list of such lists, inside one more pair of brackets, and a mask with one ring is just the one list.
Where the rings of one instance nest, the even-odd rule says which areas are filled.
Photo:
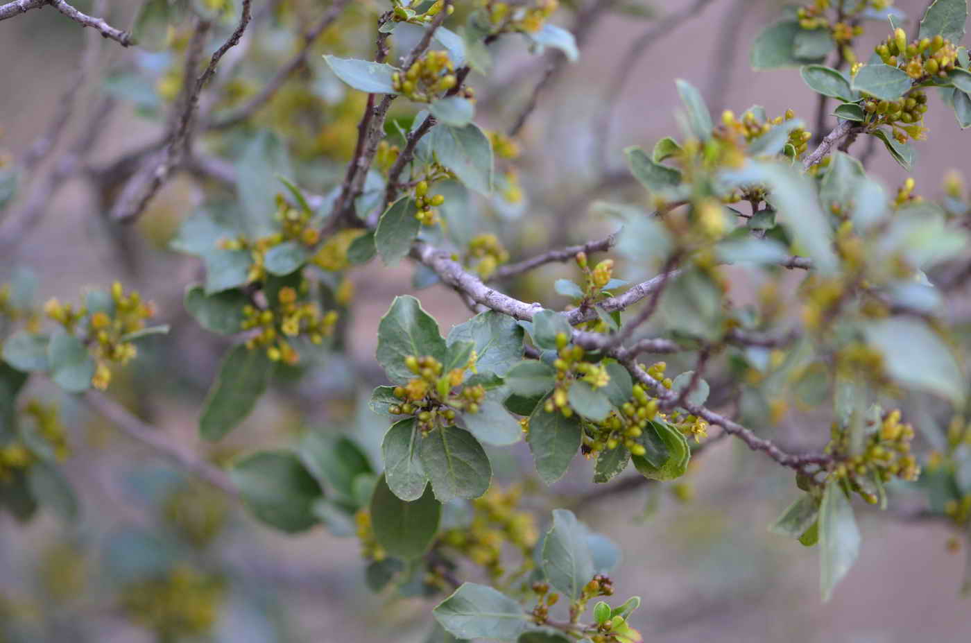
[[820, 592], [822, 602], [850, 571], [859, 555], [860, 535], [853, 507], [839, 482], [830, 481], [820, 505]]

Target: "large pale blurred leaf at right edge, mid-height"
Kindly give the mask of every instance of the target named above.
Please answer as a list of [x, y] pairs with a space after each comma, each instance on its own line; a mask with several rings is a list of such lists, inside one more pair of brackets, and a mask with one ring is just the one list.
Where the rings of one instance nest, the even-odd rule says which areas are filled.
[[951, 349], [922, 321], [868, 322], [867, 342], [884, 354], [887, 374], [905, 387], [936, 393], [960, 406], [967, 386]]

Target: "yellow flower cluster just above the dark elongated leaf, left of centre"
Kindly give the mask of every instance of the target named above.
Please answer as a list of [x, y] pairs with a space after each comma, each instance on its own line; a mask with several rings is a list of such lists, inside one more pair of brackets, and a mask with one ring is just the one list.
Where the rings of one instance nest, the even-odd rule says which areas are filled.
[[292, 340], [307, 337], [313, 344], [320, 344], [324, 337], [333, 334], [337, 311], [321, 313], [318, 304], [309, 300], [309, 292], [310, 282], [301, 279], [296, 288], [280, 288], [278, 306], [275, 308], [245, 306], [243, 329], [259, 329], [247, 340], [247, 348], [265, 347], [266, 355], [271, 360], [295, 364], [300, 361], [300, 354], [293, 348]]

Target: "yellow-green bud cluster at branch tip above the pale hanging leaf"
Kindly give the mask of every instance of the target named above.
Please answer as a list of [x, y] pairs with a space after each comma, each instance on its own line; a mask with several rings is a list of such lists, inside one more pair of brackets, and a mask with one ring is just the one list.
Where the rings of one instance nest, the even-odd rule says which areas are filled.
[[850, 455], [850, 430], [834, 424], [825, 453], [839, 461], [830, 475], [846, 481], [851, 490], [867, 502], [876, 504], [878, 491], [885, 483], [895, 477], [917, 480], [921, 467], [911, 453], [914, 427], [900, 422], [899, 410], [865, 421], [864, 429], [867, 434], [860, 452]]

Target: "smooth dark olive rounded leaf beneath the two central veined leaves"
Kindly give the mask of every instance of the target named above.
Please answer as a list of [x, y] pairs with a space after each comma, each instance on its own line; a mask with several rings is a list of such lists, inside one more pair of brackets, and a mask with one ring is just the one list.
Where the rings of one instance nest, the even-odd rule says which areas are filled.
[[430, 488], [418, 500], [408, 502], [388, 489], [385, 476], [378, 479], [371, 498], [371, 525], [375, 539], [389, 555], [404, 560], [422, 556], [435, 539], [441, 517], [442, 505]]

